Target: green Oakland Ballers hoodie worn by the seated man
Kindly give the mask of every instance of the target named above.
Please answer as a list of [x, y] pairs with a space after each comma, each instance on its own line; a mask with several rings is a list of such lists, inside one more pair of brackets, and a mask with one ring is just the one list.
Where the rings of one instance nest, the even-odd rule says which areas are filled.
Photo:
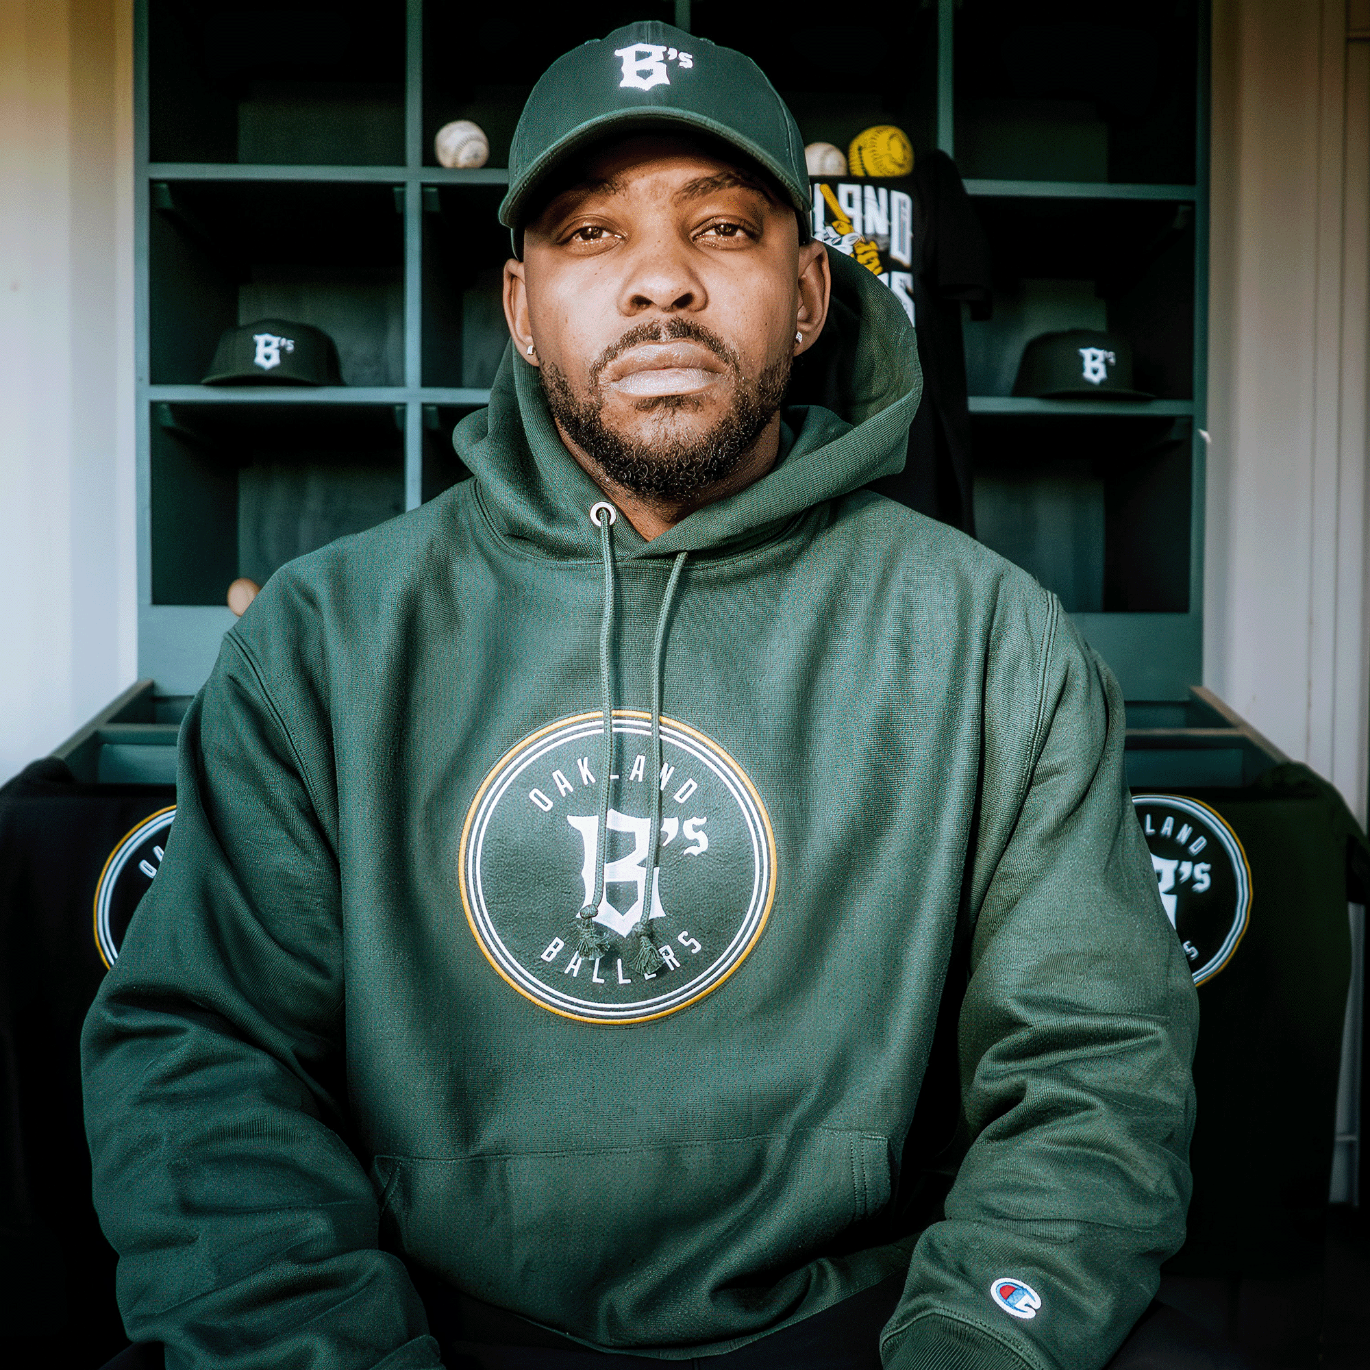
[[506, 355], [475, 480], [226, 636], [84, 1041], [170, 1366], [436, 1366], [406, 1262], [666, 1360], [896, 1271], [897, 1370], [1089, 1370], [1147, 1306], [1196, 1008], [1122, 703], [1034, 581], [860, 489], [918, 363], [833, 273], [796, 390], [851, 422], [788, 408], [748, 489], [606, 558]]

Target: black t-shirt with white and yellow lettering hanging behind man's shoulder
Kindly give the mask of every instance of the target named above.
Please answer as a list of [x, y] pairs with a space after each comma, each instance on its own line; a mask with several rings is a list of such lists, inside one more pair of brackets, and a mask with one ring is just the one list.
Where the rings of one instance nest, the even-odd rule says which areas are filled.
[[923, 399], [908, 460], [871, 489], [974, 533], [962, 304], [989, 318], [989, 245], [956, 164], [927, 152], [911, 175], [821, 178], [812, 190], [815, 236], [875, 273], [918, 332]]

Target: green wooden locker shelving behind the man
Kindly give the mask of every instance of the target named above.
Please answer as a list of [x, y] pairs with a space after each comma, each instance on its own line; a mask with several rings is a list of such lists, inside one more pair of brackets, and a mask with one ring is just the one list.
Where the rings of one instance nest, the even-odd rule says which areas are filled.
[[[981, 533], [1062, 592], [1129, 699], [1189, 699], [1203, 636], [1207, 5], [1110, 12], [1156, 56], [1151, 134], [1111, 105], [1091, 112], [1088, 101], [1041, 95], [1071, 60], [1062, 25], [1097, 30], [1093, 10], [925, 0], [892, 14], [878, 44], [833, 25], [830, 5], [796, 4], [777, 29], [773, 14], [717, 0], [611, 4], [592, 21], [552, 7], [536, 23], [526, 10], [486, 14], [473, 38], [455, 27], [458, 7], [425, 11], [422, 0], [337, 0], [248, 21], [237, 7], [140, 0], [141, 674], [166, 696], [199, 688], [232, 622], [229, 571], [248, 549], [251, 566], [269, 570], [460, 477], [447, 434], [485, 401], [500, 347], [504, 237], [493, 211], [507, 173], [497, 163], [527, 82], [573, 42], [659, 15], [749, 51], [806, 138], [843, 142], [864, 123], [899, 122], [915, 147], [960, 153], [992, 244], [1000, 258], [1018, 253], [1010, 266], [1022, 282], [1000, 290], [997, 322], [967, 330], [973, 382], [984, 382], [970, 403]], [[1028, 25], [1028, 38], [1012, 25]], [[1025, 42], [1036, 53], [1026, 75], [1006, 56]], [[330, 53], [333, 66], [319, 64]], [[433, 133], [463, 116], [486, 129], [492, 164], [444, 170]], [[1115, 170], [1129, 179], [1110, 178]], [[1081, 263], [1062, 266], [1054, 223]], [[1108, 274], [1108, 300], [1091, 299], [1086, 267]], [[1129, 271], [1140, 277], [1126, 286]], [[1156, 400], [1008, 393], [1025, 333], [1040, 321], [1066, 326], [1075, 307], [1132, 321]], [[199, 385], [219, 332], [253, 311], [329, 329], [349, 384]], [[289, 530], [249, 526], [292, 497], [318, 506], [293, 544]]]

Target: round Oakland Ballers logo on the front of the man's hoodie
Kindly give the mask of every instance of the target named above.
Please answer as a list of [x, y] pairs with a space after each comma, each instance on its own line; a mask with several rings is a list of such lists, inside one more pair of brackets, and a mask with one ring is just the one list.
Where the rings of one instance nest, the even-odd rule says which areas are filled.
[[[660, 721], [659, 770], [651, 738], [649, 714], [614, 711], [603, 856], [597, 711], [525, 737], [466, 815], [459, 875], [471, 932], [510, 985], [566, 1018], [634, 1023], [695, 1003], [738, 967], [770, 915], [775, 838], [756, 786], [685, 723]], [[648, 881], [652, 785], [662, 829]], [[593, 922], [604, 949], [590, 959], [575, 915], [595, 899], [601, 859]], [[660, 956], [651, 973], [632, 955], [640, 923]]]

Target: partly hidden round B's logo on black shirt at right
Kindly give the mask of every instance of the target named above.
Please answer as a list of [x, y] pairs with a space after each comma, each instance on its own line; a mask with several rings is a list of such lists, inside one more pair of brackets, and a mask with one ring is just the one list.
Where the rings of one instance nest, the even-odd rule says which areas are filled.
[[1195, 984], [1232, 960], [1251, 917], [1251, 867], [1237, 834], [1197, 799], [1133, 795], [1160, 903], [1184, 948]]

